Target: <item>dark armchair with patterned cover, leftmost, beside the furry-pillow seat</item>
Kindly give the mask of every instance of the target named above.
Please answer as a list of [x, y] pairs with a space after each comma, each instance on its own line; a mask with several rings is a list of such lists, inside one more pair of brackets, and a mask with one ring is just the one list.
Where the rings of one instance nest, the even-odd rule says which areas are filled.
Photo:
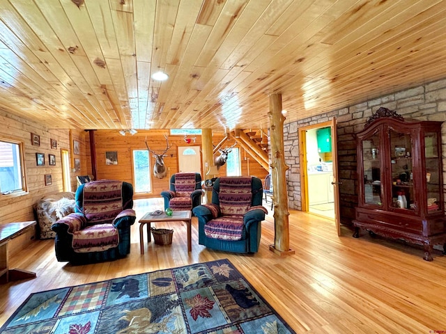
[[136, 215], [132, 184], [99, 180], [80, 185], [75, 212], [52, 225], [59, 262], [85, 264], [130, 253], [130, 225]]

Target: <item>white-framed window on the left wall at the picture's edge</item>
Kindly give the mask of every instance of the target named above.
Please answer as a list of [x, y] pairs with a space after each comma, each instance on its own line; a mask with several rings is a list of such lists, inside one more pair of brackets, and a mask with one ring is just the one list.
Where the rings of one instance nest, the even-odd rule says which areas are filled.
[[23, 143], [0, 138], [0, 193], [25, 191]]

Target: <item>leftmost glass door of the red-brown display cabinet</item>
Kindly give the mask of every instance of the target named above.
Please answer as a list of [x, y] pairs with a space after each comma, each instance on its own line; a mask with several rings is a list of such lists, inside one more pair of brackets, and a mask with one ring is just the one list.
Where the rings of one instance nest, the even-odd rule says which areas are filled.
[[383, 205], [379, 148], [380, 136], [378, 133], [362, 141], [364, 204]]

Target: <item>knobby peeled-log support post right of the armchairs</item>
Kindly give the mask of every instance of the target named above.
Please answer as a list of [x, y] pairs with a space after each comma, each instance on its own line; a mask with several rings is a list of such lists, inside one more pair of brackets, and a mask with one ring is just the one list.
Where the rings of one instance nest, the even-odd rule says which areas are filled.
[[289, 234], [288, 194], [286, 190], [286, 170], [284, 155], [284, 120], [282, 115], [282, 95], [270, 95], [270, 136], [271, 136], [271, 178], [274, 203], [274, 245], [270, 250], [278, 255], [291, 255]]

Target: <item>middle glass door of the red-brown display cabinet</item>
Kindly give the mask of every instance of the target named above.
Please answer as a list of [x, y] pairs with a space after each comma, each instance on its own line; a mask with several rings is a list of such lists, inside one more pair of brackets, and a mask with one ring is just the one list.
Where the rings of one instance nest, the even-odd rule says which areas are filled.
[[410, 133], [390, 129], [390, 166], [392, 173], [392, 203], [390, 207], [416, 209], [413, 186], [412, 140]]

